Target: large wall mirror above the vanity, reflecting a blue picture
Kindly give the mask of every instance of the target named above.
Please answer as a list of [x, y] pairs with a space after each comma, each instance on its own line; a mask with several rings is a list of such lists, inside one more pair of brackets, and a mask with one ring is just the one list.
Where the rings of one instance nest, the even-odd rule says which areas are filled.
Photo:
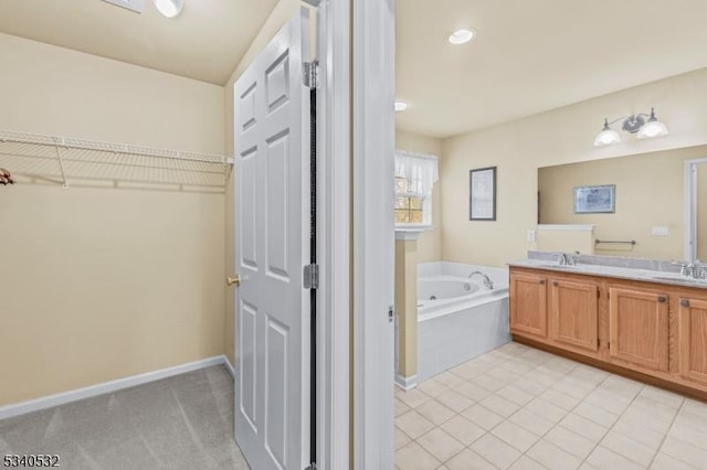
[[[692, 212], [686, 209], [690, 160], [697, 161]], [[613, 213], [574, 212], [576, 188], [606, 184], [615, 185]], [[707, 146], [540, 168], [538, 222], [593, 225], [593, 238], [601, 241], [593, 244], [595, 255], [684, 259], [694, 253], [707, 260]]]

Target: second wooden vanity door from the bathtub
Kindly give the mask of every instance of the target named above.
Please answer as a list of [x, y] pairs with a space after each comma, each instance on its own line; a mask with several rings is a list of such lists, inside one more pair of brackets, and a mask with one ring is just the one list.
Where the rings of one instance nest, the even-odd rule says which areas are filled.
[[599, 350], [595, 284], [550, 280], [550, 338], [585, 351]]

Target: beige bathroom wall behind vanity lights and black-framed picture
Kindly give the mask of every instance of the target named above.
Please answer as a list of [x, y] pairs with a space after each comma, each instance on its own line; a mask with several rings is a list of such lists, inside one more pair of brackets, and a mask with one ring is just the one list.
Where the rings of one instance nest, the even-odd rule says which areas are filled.
[[[551, 93], [551, 92], [548, 92]], [[656, 113], [671, 135], [593, 147], [604, 116]], [[535, 247], [537, 169], [707, 143], [707, 68], [444, 140], [442, 259], [503, 266]], [[497, 165], [497, 221], [468, 221], [468, 171]], [[641, 174], [640, 169], [635, 174]]]

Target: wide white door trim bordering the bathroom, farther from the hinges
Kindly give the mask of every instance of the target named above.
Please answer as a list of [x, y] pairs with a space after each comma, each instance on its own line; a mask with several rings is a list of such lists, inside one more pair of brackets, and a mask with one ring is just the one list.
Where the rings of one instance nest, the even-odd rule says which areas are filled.
[[395, 1], [352, 7], [354, 463], [392, 469]]

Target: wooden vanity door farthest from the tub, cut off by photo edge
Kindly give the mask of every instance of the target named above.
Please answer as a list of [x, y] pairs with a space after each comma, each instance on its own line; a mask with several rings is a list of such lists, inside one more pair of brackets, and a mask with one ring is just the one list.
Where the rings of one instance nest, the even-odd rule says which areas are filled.
[[680, 299], [680, 375], [707, 385], [707, 301]]

